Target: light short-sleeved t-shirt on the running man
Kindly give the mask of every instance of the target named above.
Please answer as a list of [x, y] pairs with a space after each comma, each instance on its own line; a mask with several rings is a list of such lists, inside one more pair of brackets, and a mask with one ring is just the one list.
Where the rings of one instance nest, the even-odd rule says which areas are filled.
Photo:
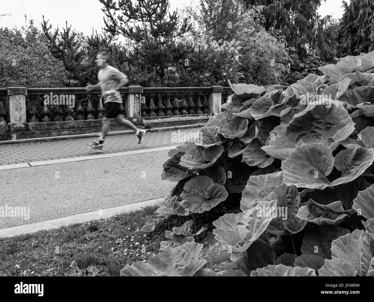
[[[99, 70], [97, 78], [100, 83], [101, 94], [103, 94], [105, 91], [116, 88], [120, 81], [127, 78], [127, 75], [121, 73], [117, 68], [108, 65], [107, 67]], [[117, 90], [115, 95], [106, 96], [104, 104], [106, 102], [122, 103], [122, 96], [120, 92]]]

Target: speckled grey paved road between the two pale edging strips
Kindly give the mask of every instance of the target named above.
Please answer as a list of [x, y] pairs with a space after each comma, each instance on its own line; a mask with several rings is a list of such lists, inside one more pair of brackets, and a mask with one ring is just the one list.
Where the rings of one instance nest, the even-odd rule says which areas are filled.
[[[0, 228], [166, 196], [175, 185], [160, 176], [167, 152], [0, 171]], [[1, 217], [6, 204], [29, 207], [30, 219]]]

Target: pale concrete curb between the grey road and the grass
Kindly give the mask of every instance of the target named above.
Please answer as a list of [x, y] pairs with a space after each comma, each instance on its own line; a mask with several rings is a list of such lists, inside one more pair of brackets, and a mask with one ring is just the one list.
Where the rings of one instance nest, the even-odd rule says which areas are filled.
[[101, 209], [92, 212], [80, 213], [71, 216], [50, 219], [46, 221], [33, 222], [31, 224], [17, 225], [15, 227], [1, 228], [0, 238], [12, 237], [21, 234], [29, 234], [42, 230], [48, 230], [51, 228], [59, 228], [63, 225], [70, 225], [76, 223], [82, 223], [92, 221], [101, 218], [108, 218], [113, 215], [117, 215], [124, 212], [130, 212], [138, 210], [142, 207], [153, 206], [161, 203], [166, 197], [155, 198], [151, 200], [140, 201], [137, 203], [125, 204], [124, 206], [111, 207], [108, 209]]

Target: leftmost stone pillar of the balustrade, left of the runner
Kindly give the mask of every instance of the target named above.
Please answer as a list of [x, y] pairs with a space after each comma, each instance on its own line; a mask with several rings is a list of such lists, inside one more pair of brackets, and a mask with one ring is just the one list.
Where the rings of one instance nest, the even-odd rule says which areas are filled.
[[10, 123], [26, 123], [27, 88], [24, 86], [9, 86], [7, 90]]

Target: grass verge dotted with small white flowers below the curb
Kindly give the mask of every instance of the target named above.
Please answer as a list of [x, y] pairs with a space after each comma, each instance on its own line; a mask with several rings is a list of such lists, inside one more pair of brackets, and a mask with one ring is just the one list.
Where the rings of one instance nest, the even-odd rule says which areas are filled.
[[157, 206], [107, 219], [32, 234], [0, 238], [1, 276], [119, 276], [126, 264], [159, 252], [165, 231], [180, 226], [164, 219], [153, 232], [141, 232]]

